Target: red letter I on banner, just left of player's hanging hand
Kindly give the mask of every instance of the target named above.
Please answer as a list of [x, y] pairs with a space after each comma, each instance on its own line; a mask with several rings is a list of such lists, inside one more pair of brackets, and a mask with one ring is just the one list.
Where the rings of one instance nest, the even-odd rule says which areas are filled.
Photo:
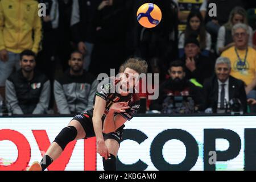
[[84, 140], [84, 171], [96, 171], [96, 137]]

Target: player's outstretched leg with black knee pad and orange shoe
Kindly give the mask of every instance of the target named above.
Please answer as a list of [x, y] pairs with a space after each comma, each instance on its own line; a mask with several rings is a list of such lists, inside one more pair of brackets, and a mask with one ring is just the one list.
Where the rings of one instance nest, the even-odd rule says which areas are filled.
[[85, 138], [85, 135], [81, 123], [73, 119], [69, 122], [67, 127], [60, 131], [51, 146], [49, 146], [46, 155], [43, 156], [43, 159], [40, 162], [40, 166], [38, 163], [33, 163], [29, 170], [41, 169], [44, 171], [44, 169], [46, 169], [54, 160], [59, 158], [69, 142], [72, 142], [75, 139]]

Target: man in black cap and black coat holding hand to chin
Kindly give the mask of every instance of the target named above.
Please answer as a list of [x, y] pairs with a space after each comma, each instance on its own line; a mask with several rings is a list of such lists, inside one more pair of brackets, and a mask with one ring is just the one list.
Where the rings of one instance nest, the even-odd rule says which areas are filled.
[[202, 85], [205, 78], [213, 75], [213, 60], [201, 55], [200, 44], [196, 38], [188, 38], [184, 46], [185, 55], [181, 60], [185, 63], [186, 78], [195, 78]]

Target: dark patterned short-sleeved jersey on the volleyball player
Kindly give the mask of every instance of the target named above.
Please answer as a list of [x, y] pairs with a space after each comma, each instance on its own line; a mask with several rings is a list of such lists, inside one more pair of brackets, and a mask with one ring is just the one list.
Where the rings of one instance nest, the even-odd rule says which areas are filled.
[[[99, 85], [95, 94], [103, 98], [106, 101], [106, 107], [104, 111], [104, 115], [102, 116], [102, 122], [104, 121], [106, 115], [109, 113], [109, 108], [115, 102], [127, 102], [129, 109], [126, 109], [125, 113], [119, 113], [123, 118], [130, 121], [131, 118], [137, 113], [140, 107], [140, 99], [137, 93], [130, 93], [127, 96], [121, 96], [121, 94], [117, 93], [115, 90], [115, 86], [117, 86], [119, 82], [119, 78], [108, 77], [105, 78]], [[95, 104], [95, 97], [93, 101], [93, 106]], [[87, 113], [92, 117], [93, 109], [87, 111]], [[115, 113], [117, 115], [118, 113]]]

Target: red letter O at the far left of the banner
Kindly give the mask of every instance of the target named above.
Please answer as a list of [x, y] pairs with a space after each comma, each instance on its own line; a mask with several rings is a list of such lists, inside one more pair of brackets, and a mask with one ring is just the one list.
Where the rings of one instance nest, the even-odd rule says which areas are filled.
[[30, 162], [31, 148], [28, 140], [15, 130], [0, 130], [0, 141], [10, 140], [18, 148], [18, 158], [9, 166], [0, 164], [0, 171], [22, 171], [25, 170]]

